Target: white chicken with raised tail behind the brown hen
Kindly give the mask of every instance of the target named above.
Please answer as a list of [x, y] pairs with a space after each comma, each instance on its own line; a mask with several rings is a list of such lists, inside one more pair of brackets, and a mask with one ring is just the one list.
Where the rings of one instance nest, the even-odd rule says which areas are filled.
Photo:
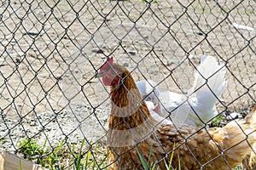
[[173, 123], [201, 127], [218, 115], [216, 104], [226, 88], [224, 64], [212, 56], [201, 57], [201, 65], [195, 69], [194, 85], [188, 94], [177, 94], [166, 89], [155, 88], [151, 80], [137, 82], [145, 100], [158, 106], [160, 116], [170, 116]]

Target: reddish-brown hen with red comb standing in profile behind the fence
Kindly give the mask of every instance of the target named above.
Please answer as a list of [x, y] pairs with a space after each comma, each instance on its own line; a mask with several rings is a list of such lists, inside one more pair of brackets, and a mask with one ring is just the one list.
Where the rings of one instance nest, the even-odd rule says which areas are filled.
[[164, 124], [150, 116], [131, 73], [113, 63], [113, 58], [102, 65], [97, 77], [110, 86], [108, 169], [144, 169], [143, 162], [155, 169], [166, 169], [169, 164], [173, 168], [180, 165], [183, 170], [231, 169], [252, 151], [255, 110], [245, 120], [229, 122], [225, 127]]

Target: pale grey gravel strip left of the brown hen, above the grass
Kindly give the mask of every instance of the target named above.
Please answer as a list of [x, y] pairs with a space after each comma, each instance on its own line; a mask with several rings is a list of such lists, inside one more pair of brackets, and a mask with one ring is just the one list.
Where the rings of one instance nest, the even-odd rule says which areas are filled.
[[15, 152], [19, 141], [26, 138], [35, 139], [41, 145], [47, 138], [47, 146], [51, 147], [58, 146], [66, 138], [70, 144], [78, 144], [84, 138], [90, 144], [105, 140], [108, 112], [106, 107], [94, 111], [90, 105], [79, 105], [70, 110], [43, 112], [20, 120], [2, 116], [0, 137], [4, 139], [0, 148]]

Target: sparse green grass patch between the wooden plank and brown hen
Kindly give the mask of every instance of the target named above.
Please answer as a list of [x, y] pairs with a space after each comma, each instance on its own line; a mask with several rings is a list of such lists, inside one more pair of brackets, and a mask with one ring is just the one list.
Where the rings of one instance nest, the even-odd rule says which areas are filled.
[[[64, 169], [64, 166], [73, 167], [74, 170], [98, 170], [107, 166], [107, 154], [102, 152], [102, 149], [99, 150], [98, 144], [85, 147], [83, 139], [81, 144], [73, 144], [72, 149], [68, 150], [64, 147], [66, 140], [63, 139], [55, 149], [49, 150], [46, 148], [46, 141], [47, 139], [43, 146], [40, 146], [34, 139], [22, 139], [19, 142], [19, 153], [26, 160], [53, 170]], [[77, 145], [79, 150], [76, 149]]]

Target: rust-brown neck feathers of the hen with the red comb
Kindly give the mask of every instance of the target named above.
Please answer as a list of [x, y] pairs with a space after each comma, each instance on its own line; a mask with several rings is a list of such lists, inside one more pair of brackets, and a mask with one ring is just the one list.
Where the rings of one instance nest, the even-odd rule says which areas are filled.
[[111, 115], [108, 127], [124, 130], [148, 121], [150, 113], [131, 74], [124, 72], [119, 87], [111, 87]]

